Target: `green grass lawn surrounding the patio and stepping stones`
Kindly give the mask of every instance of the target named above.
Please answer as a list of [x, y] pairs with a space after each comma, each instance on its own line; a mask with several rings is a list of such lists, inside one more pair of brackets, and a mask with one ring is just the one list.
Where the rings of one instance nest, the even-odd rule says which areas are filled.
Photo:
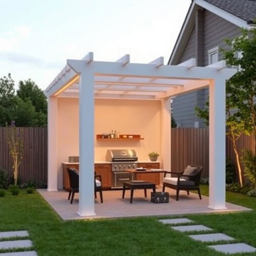
[[[202, 190], [208, 193], [207, 186], [202, 186]], [[256, 247], [256, 198], [230, 192], [227, 198], [254, 211], [198, 214], [189, 218]], [[26, 194], [23, 190], [18, 196], [8, 194], [0, 198], [0, 231], [28, 230], [39, 256], [223, 255], [191, 240], [186, 234], [172, 231], [156, 219], [63, 222], [38, 193]]]

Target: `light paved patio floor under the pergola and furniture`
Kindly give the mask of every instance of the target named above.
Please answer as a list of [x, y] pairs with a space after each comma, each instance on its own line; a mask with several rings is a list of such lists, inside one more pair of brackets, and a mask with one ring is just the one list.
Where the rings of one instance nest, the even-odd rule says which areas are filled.
[[250, 210], [249, 208], [230, 203], [226, 203], [226, 210], [212, 210], [208, 208], [207, 196], [202, 196], [202, 200], [199, 200], [197, 194], [190, 192], [190, 196], [188, 196], [186, 191], [180, 191], [180, 198], [177, 202], [175, 200], [176, 191], [171, 189], [166, 190], [166, 192], [170, 194], [169, 203], [151, 203], [151, 191], [148, 190], [148, 198], [144, 198], [143, 190], [135, 190], [133, 203], [130, 204], [130, 191], [126, 191], [126, 197], [122, 199], [121, 190], [111, 190], [103, 191], [103, 204], [100, 203], [99, 195], [97, 195], [97, 199], [95, 200], [95, 216], [81, 217], [77, 214], [79, 194], [75, 194], [74, 202], [70, 204], [70, 201], [68, 201], [68, 192], [65, 190], [48, 192], [44, 189], [38, 189], [38, 192], [63, 220], [239, 212]]

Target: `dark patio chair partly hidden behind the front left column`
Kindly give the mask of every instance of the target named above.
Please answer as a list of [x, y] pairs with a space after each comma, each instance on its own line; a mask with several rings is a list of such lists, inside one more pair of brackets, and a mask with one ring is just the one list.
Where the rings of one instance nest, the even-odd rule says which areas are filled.
[[[72, 195], [71, 201], [70, 201], [70, 204], [72, 204], [73, 200], [74, 200], [74, 194], [79, 192], [79, 172], [75, 168], [68, 168], [68, 176], [69, 176], [69, 181], [70, 181], [68, 200], [70, 200], [70, 196]], [[94, 172], [94, 196], [95, 196], [95, 198], [97, 198], [96, 192], [100, 193], [100, 202], [103, 203], [101, 175], [96, 175], [96, 173]]]

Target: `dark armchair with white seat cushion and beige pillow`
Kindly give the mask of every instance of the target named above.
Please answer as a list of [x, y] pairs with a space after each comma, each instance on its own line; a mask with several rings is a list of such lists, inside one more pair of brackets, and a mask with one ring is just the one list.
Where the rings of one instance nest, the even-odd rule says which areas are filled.
[[[202, 199], [199, 187], [202, 169], [202, 166], [190, 165], [182, 172], [165, 172], [163, 192], [166, 187], [175, 189], [176, 201], [178, 201], [180, 190], [186, 190], [188, 195], [190, 190], [197, 190], [199, 198]], [[178, 177], [166, 177], [166, 174], [176, 174]]]

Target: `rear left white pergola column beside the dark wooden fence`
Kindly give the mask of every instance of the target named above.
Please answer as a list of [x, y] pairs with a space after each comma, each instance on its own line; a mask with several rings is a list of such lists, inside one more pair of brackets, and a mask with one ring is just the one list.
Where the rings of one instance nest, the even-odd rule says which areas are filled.
[[58, 191], [57, 156], [57, 97], [48, 97], [48, 191]]

